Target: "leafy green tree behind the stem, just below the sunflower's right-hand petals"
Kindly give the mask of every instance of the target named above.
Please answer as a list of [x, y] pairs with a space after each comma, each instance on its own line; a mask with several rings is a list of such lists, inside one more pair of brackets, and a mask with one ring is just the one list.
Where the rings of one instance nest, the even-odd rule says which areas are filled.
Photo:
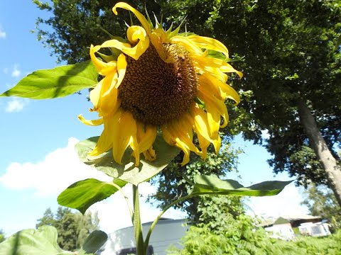
[[[180, 162], [183, 154], [180, 152], [164, 171], [151, 179], [151, 183], [158, 187], [158, 191], [153, 196], [150, 196], [148, 200], [157, 201], [159, 208], [165, 208], [173, 200], [187, 196], [192, 192], [193, 186], [188, 181], [193, 182], [194, 176], [197, 174], [225, 176], [230, 171], [236, 171], [237, 155], [239, 153], [241, 153], [240, 150], [232, 149], [228, 145], [220, 149], [220, 154], [215, 154], [215, 152], [212, 152], [212, 147], [209, 147], [207, 159], [204, 160], [195, 154], [191, 154], [190, 162], [185, 166], [181, 166]], [[184, 176], [186, 177], [184, 178]], [[199, 208], [205, 208], [205, 205], [211, 204], [209, 201], [213, 202], [212, 199], [209, 196], [196, 196], [178, 203], [176, 207], [187, 212], [190, 221], [197, 224], [201, 222], [199, 219], [202, 212]], [[234, 204], [234, 208], [238, 211], [237, 208], [242, 208], [241, 200], [231, 197], [220, 201], [220, 208], [227, 208], [231, 203]]]

